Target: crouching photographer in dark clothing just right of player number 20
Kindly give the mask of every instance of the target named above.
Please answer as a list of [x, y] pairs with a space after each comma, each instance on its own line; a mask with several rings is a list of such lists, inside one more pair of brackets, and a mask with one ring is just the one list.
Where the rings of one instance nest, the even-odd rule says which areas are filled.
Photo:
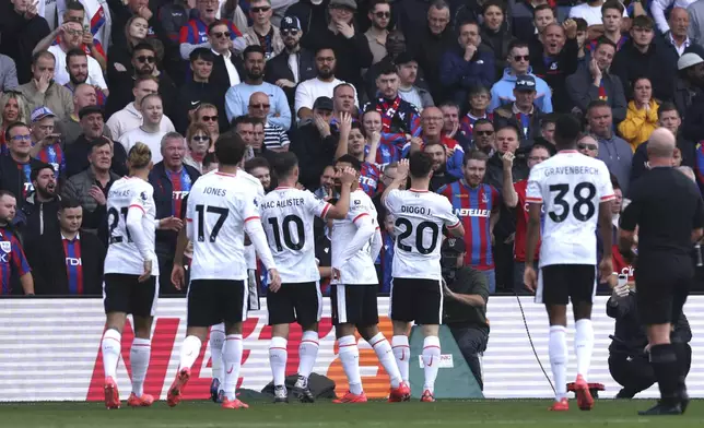
[[479, 355], [486, 349], [489, 341], [486, 276], [465, 266], [466, 250], [462, 239], [445, 239], [441, 251], [445, 294], [443, 323], [449, 328], [479, 388], [483, 390]]

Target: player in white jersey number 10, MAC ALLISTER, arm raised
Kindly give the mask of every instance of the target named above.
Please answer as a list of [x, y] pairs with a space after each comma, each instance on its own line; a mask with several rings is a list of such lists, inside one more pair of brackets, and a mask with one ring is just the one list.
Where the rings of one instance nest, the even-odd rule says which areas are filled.
[[281, 275], [281, 288], [269, 287], [267, 310], [271, 330], [269, 362], [273, 374], [274, 403], [288, 401], [284, 385], [289, 324], [297, 322], [303, 329], [298, 345], [298, 379], [293, 392], [305, 403], [315, 401], [308, 388], [308, 377], [318, 355], [318, 321], [322, 312], [320, 273], [315, 262], [315, 217], [342, 219], [350, 207], [350, 187], [356, 179], [352, 168], [343, 168], [340, 201], [331, 205], [308, 190], [296, 189], [298, 159], [292, 152], [279, 153], [272, 160], [279, 187], [261, 201], [261, 223], [269, 248]]

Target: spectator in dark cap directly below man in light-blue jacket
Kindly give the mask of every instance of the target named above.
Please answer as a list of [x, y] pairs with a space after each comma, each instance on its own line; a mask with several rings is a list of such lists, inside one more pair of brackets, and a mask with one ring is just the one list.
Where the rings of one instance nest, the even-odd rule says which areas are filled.
[[536, 105], [536, 79], [524, 74], [516, 78], [514, 86], [515, 102], [494, 110], [494, 122], [498, 128], [506, 122], [513, 122], [520, 130], [520, 147], [532, 145], [535, 138], [540, 136], [540, 120], [542, 111]]

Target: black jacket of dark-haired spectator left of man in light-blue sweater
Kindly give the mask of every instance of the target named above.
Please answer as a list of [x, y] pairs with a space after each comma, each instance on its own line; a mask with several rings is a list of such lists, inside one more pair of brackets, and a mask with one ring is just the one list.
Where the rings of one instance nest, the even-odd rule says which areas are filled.
[[172, 117], [176, 130], [186, 135], [186, 130], [190, 124], [188, 112], [199, 104], [212, 104], [218, 107], [218, 122], [220, 132], [225, 132], [230, 128], [227, 116], [225, 115], [225, 92], [230, 86], [216, 85], [214, 83], [199, 83], [192, 80], [186, 82], [178, 88], [176, 107]]

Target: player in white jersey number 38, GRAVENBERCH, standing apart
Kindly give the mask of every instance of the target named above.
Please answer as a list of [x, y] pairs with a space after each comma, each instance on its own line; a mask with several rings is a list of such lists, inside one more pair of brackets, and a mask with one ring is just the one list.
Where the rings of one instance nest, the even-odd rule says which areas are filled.
[[[597, 224], [603, 239], [601, 281], [607, 282], [612, 272], [613, 188], [606, 164], [577, 152], [579, 132], [579, 122], [574, 117], [558, 118], [554, 134], [558, 154], [532, 167], [526, 191], [529, 219], [524, 281], [536, 292], [536, 301], [545, 305], [550, 319], [548, 350], [555, 387], [555, 402], [550, 409], [556, 412], [570, 408], [566, 385], [570, 301], [575, 319], [577, 405], [583, 411], [594, 407], [587, 374], [594, 348], [591, 304], [597, 289]], [[543, 205], [540, 274], [536, 275], [532, 266]]]

